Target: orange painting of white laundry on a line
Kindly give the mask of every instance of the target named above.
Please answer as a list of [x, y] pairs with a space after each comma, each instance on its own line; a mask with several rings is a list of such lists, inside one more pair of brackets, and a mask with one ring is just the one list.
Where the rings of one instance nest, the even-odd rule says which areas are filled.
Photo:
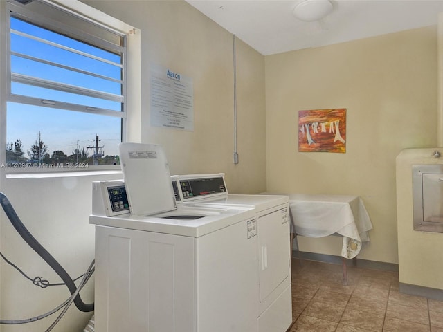
[[346, 109], [298, 111], [298, 151], [346, 152]]

